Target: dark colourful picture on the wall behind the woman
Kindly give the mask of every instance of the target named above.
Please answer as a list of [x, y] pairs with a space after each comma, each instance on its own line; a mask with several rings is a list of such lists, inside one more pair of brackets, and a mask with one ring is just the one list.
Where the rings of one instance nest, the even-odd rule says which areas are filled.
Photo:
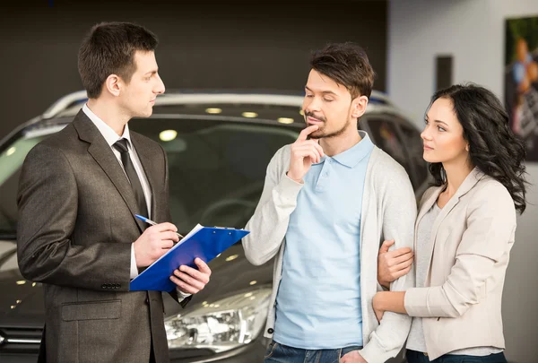
[[505, 106], [510, 127], [538, 161], [538, 15], [505, 24]]

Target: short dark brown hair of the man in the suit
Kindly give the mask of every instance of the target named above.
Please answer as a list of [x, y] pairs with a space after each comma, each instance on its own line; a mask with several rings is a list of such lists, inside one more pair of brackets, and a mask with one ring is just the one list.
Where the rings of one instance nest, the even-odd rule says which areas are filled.
[[101, 22], [94, 25], [82, 40], [78, 69], [82, 85], [90, 99], [97, 99], [110, 74], [117, 74], [127, 84], [136, 71], [134, 53], [154, 51], [157, 37], [140, 25], [130, 22]]

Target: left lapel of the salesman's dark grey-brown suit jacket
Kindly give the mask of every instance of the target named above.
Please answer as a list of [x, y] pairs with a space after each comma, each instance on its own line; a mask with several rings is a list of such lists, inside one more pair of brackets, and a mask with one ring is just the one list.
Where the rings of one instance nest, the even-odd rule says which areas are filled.
[[137, 207], [133, 188], [129, 184], [125, 172], [119, 165], [114, 151], [112, 151], [103, 135], [100, 134], [99, 129], [93, 125], [91, 119], [82, 110], [74, 117], [73, 125], [79, 134], [79, 138], [86, 143], [90, 143], [88, 152], [107, 174], [112, 184], [116, 186], [117, 191], [126, 202], [129, 211], [133, 215], [133, 219], [142, 232], [144, 229], [143, 221], [134, 217]]

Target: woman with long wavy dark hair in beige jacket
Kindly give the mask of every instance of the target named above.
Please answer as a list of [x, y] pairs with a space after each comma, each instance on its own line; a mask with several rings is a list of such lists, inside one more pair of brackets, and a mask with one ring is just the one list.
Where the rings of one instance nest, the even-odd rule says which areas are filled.
[[[525, 148], [499, 99], [474, 84], [436, 92], [425, 123], [434, 183], [415, 224], [417, 287], [378, 292], [377, 319], [413, 316], [409, 363], [506, 362], [500, 306], [516, 212], [525, 211]], [[379, 261], [387, 285], [394, 277]]]

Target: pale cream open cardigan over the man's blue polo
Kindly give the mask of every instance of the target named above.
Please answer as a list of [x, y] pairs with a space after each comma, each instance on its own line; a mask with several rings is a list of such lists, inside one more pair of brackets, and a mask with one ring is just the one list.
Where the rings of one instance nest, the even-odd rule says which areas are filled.
[[[243, 238], [245, 255], [252, 264], [265, 264], [276, 255], [273, 294], [264, 334], [268, 338], [273, 337], [286, 230], [302, 187], [286, 177], [290, 153], [290, 145], [286, 145], [269, 163], [260, 202], [245, 228], [251, 233]], [[372, 298], [381, 290], [377, 283], [377, 252], [384, 239], [395, 239], [395, 248], [412, 246], [417, 208], [404, 168], [377, 147], [370, 155], [364, 183], [360, 216], [360, 305], [364, 348], [360, 354], [369, 363], [383, 363], [402, 349], [411, 328], [411, 317], [387, 312], [381, 324], [377, 323], [372, 307]], [[308, 229], [308, 226], [305, 228]], [[412, 286], [413, 271], [394, 281], [391, 290], [402, 291]]]

